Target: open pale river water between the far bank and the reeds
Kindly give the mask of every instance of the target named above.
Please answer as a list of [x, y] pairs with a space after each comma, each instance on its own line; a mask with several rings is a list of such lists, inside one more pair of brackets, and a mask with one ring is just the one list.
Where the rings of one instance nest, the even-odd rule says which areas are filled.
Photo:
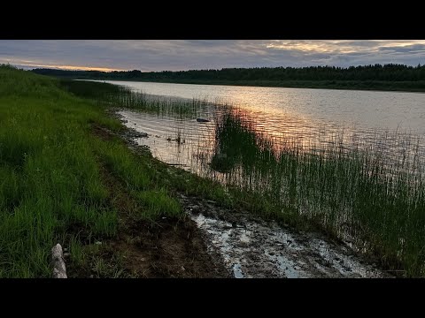
[[264, 125], [274, 125], [278, 116], [303, 124], [321, 125], [324, 122], [358, 129], [398, 129], [425, 135], [425, 94], [421, 93], [109, 82], [153, 95], [228, 102], [255, 113]]

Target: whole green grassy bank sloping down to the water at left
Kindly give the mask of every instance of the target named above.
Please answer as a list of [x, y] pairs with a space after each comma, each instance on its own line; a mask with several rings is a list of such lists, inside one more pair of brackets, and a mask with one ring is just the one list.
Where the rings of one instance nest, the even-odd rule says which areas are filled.
[[[174, 182], [214, 192], [185, 176], [166, 178], [150, 156], [135, 155], [118, 137], [101, 138], [94, 127], [123, 129], [103, 104], [66, 92], [57, 79], [0, 66], [0, 277], [50, 276], [56, 243], [71, 252], [70, 268], [105, 269], [93, 256], [96, 242], [131, 222], [182, 217]], [[120, 193], [136, 206], [126, 215]], [[99, 276], [130, 275], [108, 269]]]

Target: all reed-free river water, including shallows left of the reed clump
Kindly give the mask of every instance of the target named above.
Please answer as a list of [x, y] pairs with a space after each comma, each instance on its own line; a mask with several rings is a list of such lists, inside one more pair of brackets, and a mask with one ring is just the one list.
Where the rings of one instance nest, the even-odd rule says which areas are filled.
[[[237, 106], [233, 115], [242, 118], [256, 135], [271, 140], [274, 149], [285, 148], [288, 140], [310, 148], [327, 144], [332, 147], [343, 140], [344, 145], [373, 148], [378, 155], [394, 158], [394, 163], [404, 160], [406, 153], [413, 153], [417, 146], [421, 150], [416, 153], [425, 154], [424, 94], [109, 82], [151, 95], [200, 98]], [[228, 178], [210, 167], [218, 145], [213, 110], [200, 115], [210, 119], [209, 123], [198, 123], [196, 116], [182, 119], [134, 111], [120, 114], [128, 127], [148, 133], [149, 138], [137, 141], [149, 146], [158, 159], [200, 175], [212, 177], [213, 173], [213, 178]], [[232, 178], [240, 178], [235, 172]]]

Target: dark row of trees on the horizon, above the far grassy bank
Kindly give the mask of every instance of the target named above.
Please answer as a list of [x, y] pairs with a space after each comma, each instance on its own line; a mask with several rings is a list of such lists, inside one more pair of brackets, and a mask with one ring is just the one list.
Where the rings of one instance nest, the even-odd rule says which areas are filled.
[[310, 67], [255, 67], [255, 68], [224, 68], [221, 70], [196, 71], [64, 71], [52, 69], [35, 69], [33, 72], [44, 75], [67, 77], [75, 79], [140, 79], [140, 80], [425, 80], [425, 65], [407, 66], [403, 64], [375, 64], [350, 66], [348, 68], [335, 66]]

